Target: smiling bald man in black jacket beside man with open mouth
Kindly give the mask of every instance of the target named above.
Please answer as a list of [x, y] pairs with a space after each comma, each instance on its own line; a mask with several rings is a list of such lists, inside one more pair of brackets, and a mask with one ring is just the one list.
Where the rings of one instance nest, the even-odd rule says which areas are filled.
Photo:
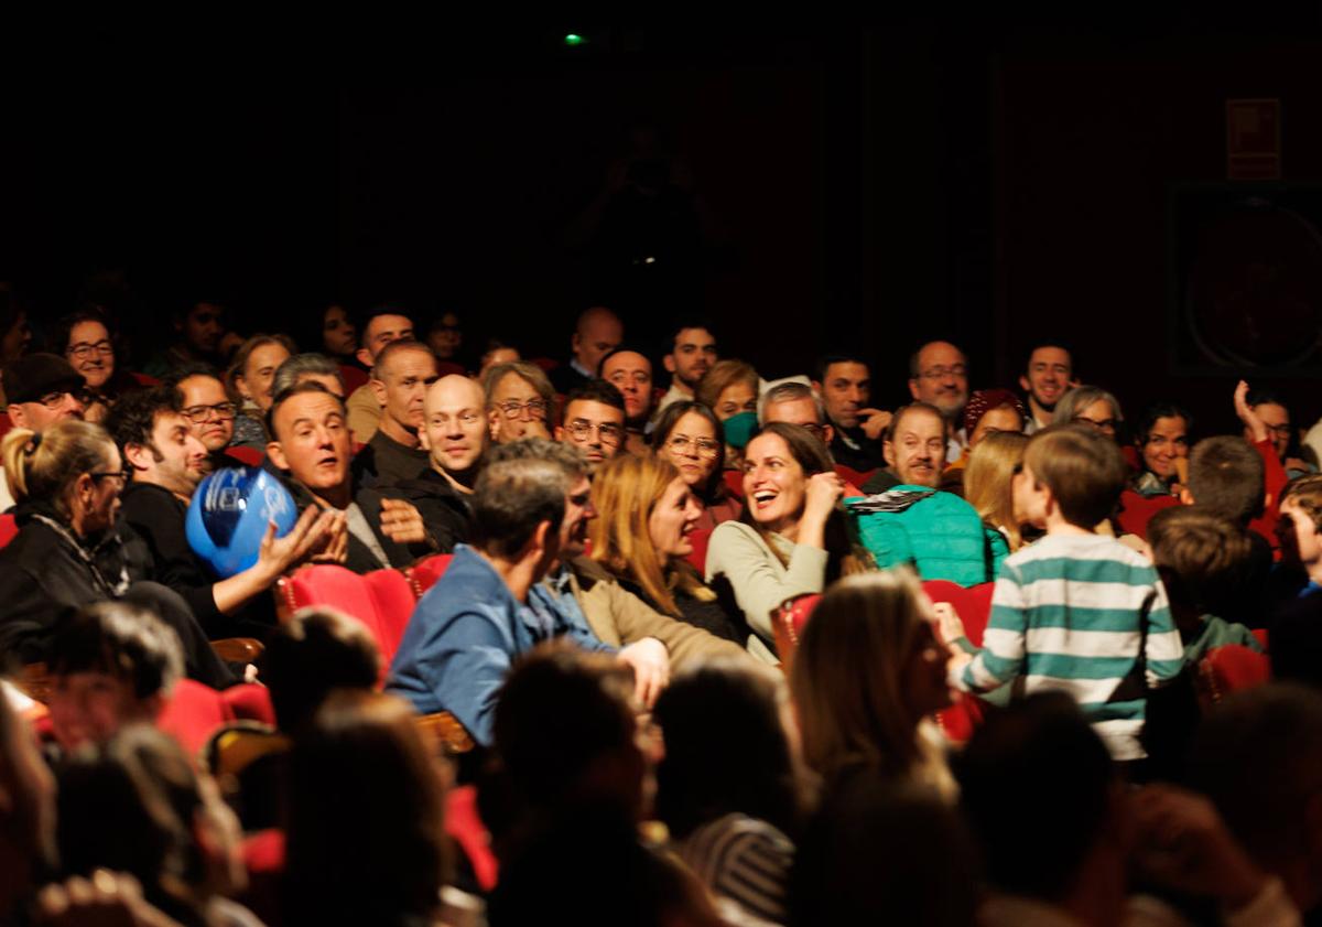
[[490, 443], [485, 406], [483, 387], [468, 377], [452, 374], [428, 386], [418, 434], [430, 465], [398, 487], [422, 512], [427, 536], [443, 554], [472, 534], [469, 497]]

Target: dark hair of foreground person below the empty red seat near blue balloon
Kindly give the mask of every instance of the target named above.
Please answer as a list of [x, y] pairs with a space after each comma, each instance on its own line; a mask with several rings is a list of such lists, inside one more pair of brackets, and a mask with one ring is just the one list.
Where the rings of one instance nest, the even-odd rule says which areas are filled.
[[304, 608], [275, 629], [262, 655], [262, 681], [280, 730], [312, 722], [334, 689], [371, 689], [381, 653], [362, 622], [329, 608]]

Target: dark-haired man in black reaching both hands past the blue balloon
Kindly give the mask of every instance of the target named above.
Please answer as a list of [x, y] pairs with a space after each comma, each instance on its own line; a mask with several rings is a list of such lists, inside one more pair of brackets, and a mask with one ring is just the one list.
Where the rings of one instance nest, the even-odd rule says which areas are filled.
[[275, 581], [311, 553], [325, 546], [338, 516], [304, 512], [284, 537], [272, 525], [258, 561], [229, 579], [215, 582], [193, 553], [184, 529], [188, 504], [205, 475], [206, 447], [180, 413], [178, 394], [169, 387], [139, 390], [123, 397], [106, 419], [132, 480], [120, 495], [123, 518], [145, 541], [152, 579], [177, 591], [193, 610], [208, 637], [264, 639], [275, 628], [274, 602], [263, 595]]

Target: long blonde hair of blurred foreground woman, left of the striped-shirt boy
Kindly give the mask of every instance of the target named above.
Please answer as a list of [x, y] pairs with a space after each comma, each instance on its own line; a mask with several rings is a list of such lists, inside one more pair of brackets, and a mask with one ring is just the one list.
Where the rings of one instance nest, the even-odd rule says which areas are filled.
[[828, 780], [850, 766], [953, 795], [927, 725], [910, 706], [904, 672], [927, 620], [908, 570], [846, 577], [804, 627], [789, 674], [804, 759]]

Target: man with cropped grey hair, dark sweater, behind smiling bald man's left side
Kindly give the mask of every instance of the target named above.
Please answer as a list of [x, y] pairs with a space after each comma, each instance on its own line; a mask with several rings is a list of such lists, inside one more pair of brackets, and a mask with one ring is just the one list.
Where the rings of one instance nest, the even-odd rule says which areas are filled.
[[427, 387], [436, 382], [436, 356], [422, 341], [391, 341], [377, 354], [371, 386], [381, 403], [381, 427], [354, 459], [368, 485], [398, 485], [428, 465], [419, 432]]

